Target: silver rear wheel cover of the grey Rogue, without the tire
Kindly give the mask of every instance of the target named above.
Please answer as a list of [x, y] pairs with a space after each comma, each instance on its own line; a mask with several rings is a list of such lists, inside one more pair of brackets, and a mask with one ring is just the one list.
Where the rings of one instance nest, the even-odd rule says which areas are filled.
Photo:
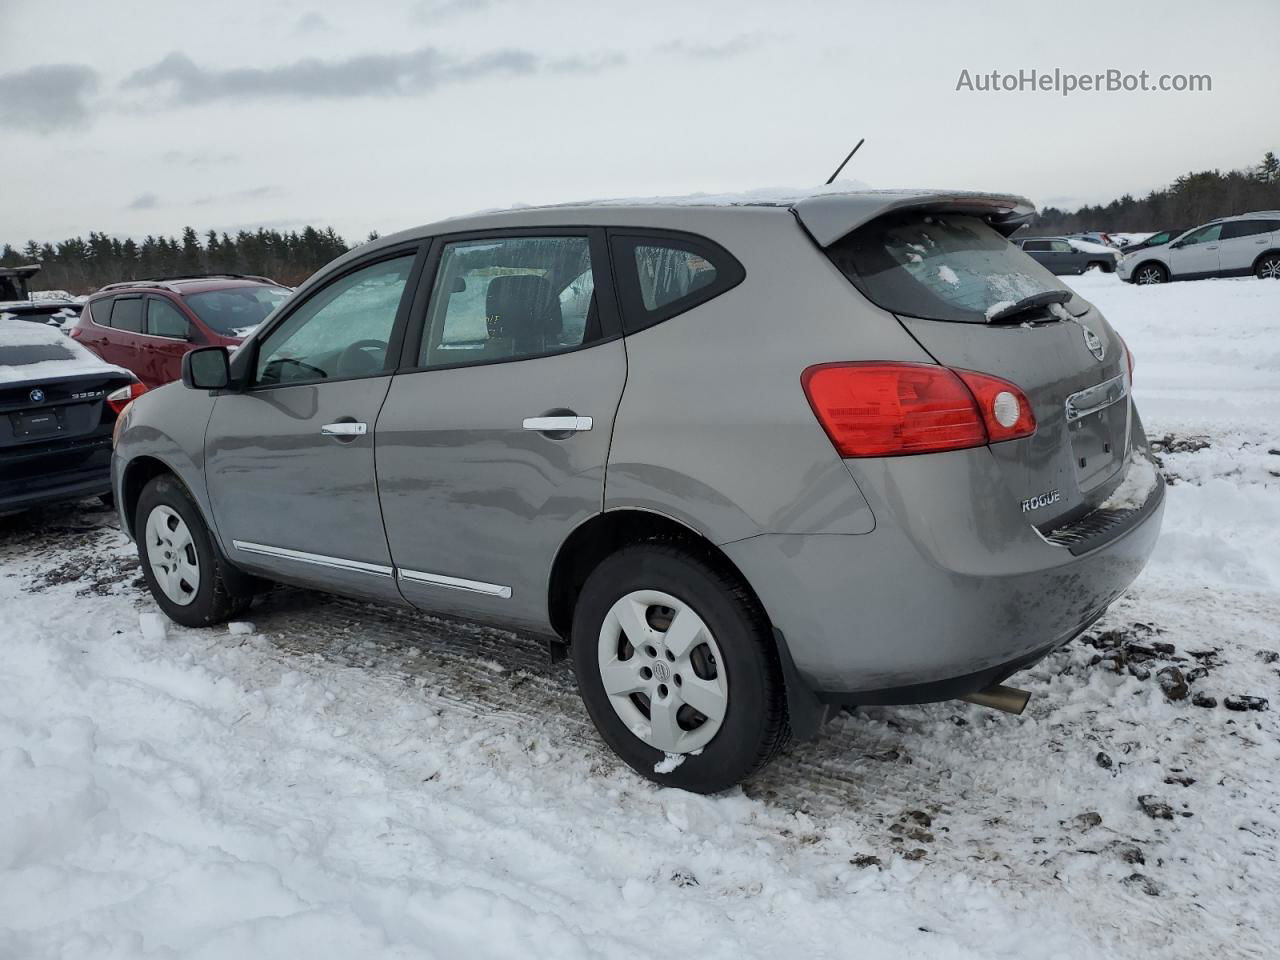
[[660, 590], [634, 590], [604, 617], [599, 668], [609, 705], [655, 750], [687, 754], [712, 741], [728, 709], [719, 646], [698, 612]]

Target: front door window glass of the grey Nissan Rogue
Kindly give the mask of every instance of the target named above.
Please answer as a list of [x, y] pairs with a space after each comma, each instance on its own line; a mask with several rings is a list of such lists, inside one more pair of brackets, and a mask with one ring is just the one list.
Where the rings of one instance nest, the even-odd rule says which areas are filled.
[[383, 260], [314, 293], [262, 339], [256, 383], [270, 387], [383, 372], [412, 266], [412, 253]]

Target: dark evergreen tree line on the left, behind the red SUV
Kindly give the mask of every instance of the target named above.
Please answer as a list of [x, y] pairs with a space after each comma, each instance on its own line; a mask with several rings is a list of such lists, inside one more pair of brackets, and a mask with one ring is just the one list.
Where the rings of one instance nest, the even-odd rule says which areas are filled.
[[[370, 234], [370, 239], [376, 238]], [[209, 230], [201, 237], [187, 227], [182, 237], [146, 237], [141, 242], [106, 233], [59, 243], [28, 241], [20, 248], [5, 243], [0, 266], [41, 264], [35, 289], [91, 293], [120, 280], [145, 280], [182, 274], [256, 274], [296, 287], [319, 268], [349, 250], [332, 227], [301, 232], [257, 229], [236, 236]]]

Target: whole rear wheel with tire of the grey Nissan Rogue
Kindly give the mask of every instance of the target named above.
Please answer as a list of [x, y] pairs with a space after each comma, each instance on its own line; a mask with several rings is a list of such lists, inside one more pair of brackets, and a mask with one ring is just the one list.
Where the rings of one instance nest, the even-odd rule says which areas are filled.
[[604, 741], [637, 773], [726, 790], [788, 739], [772, 631], [726, 572], [669, 545], [627, 547], [588, 577], [573, 669]]

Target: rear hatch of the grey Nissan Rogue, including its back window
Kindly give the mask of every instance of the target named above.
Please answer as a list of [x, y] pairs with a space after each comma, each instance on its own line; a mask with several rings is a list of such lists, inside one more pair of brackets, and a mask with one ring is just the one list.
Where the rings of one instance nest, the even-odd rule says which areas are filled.
[[[1027, 396], [1032, 436], [991, 444], [1006, 495], [1050, 530], [1115, 488], [1128, 454], [1128, 360], [1097, 310], [983, 218], [911, 209], [827, 247], [940, 364], [1004, 378]], [[1061, 303], [1018, 308], [1057, 292]]]

